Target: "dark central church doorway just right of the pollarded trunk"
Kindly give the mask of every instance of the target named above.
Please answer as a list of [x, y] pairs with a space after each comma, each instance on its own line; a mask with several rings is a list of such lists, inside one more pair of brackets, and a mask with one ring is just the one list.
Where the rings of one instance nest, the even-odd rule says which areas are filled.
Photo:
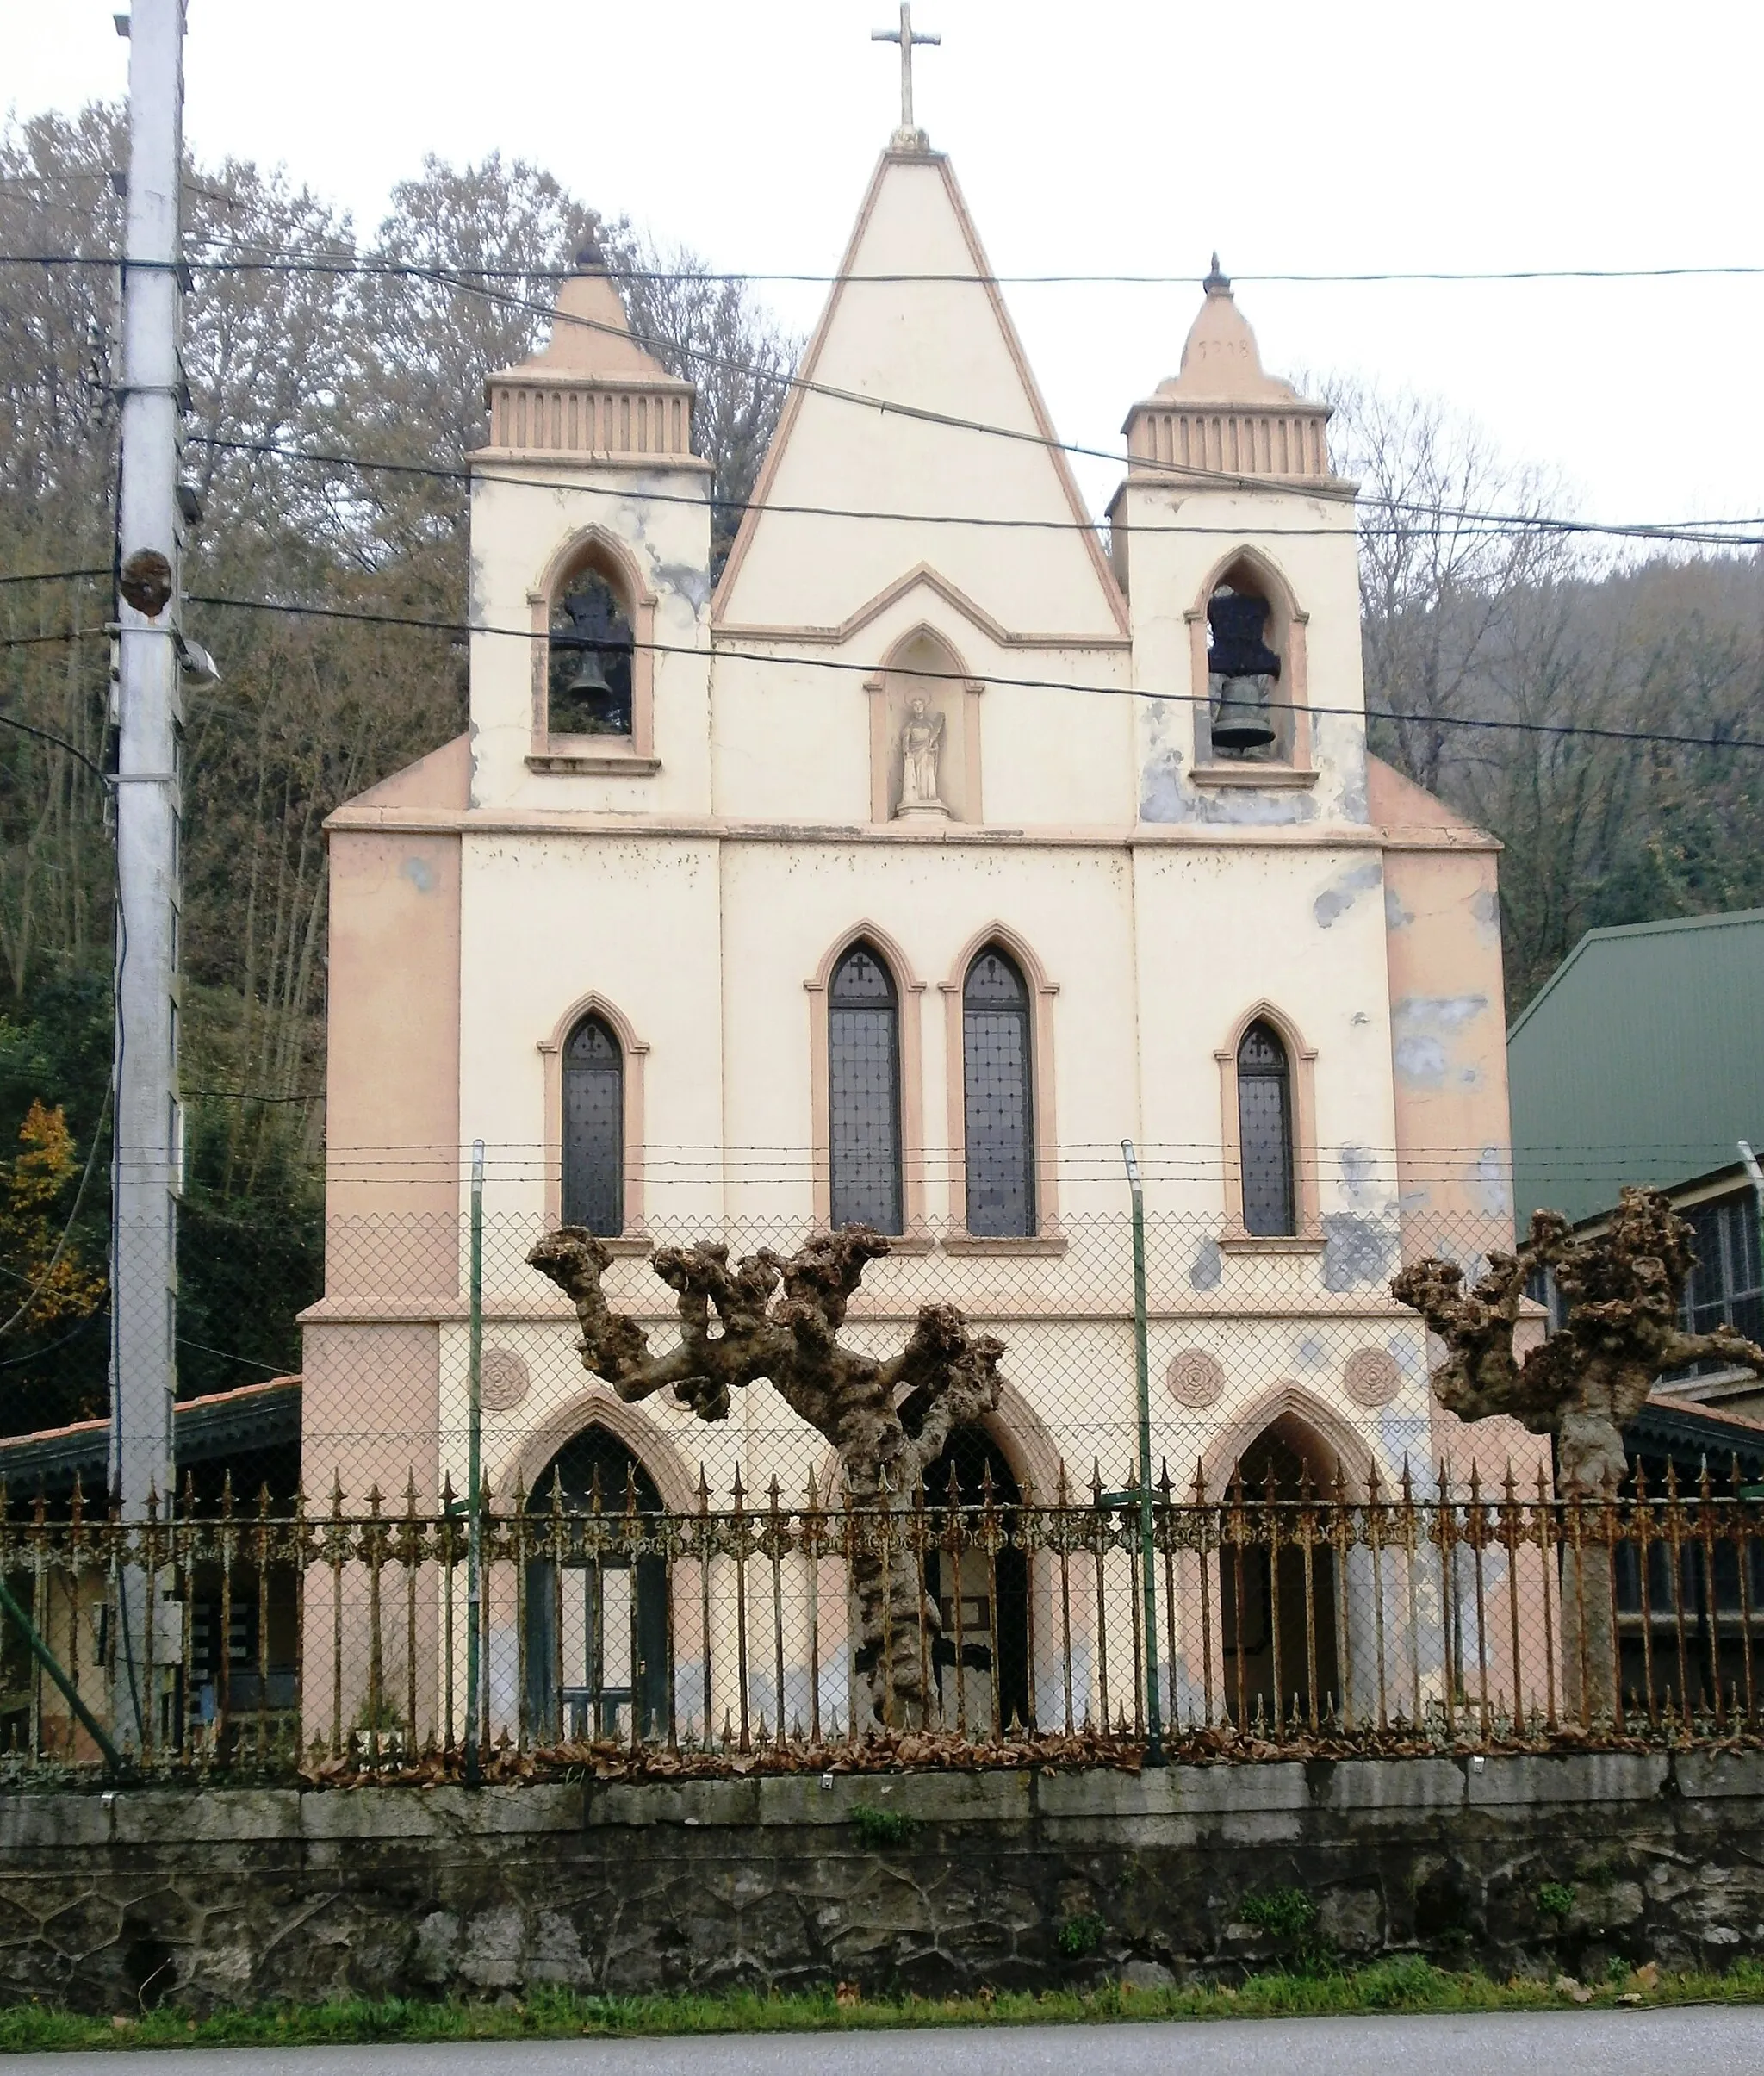
[[[940, 1634], [932, 1642], [932, 1684], [944, 1729], [990, 1738], [994, 1725], [1027, 1725], [1029, 1557], [1017, 1509], [1023, 1491], [998, 1439], [961, 1426], [926, 1466], [926, 1599]], [[988, 1499], [998, 1549], [980, 1536]]]

